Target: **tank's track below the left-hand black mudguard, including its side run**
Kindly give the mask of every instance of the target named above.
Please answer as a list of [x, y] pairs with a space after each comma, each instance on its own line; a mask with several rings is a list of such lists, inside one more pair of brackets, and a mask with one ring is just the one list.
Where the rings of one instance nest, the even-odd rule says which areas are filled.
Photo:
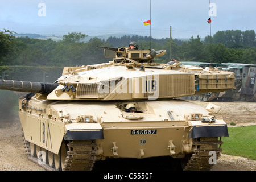
[[[47, 164], [39, 163], [36, 156], [31, 156], [29, 142], [24, 139], [24, 148], [28, 160], [31, 160], [46, 171], [57, 171]], [[68, 151], [63, 171], [91, 171], [96, 161], [97, 144], [94, 140], [73, 140], [67, 144]]]

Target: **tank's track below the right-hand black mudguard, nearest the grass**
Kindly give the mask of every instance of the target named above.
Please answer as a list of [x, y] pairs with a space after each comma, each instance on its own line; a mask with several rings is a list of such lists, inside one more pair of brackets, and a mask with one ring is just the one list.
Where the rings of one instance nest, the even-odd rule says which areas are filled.
[[217, 137], [209, 138], [197, 138], [194, 140], [193, 144], [195, 145], [194, 153], [191, 158], [188, 160], [187, 165], [184, 168], [184, 171], [209, 171], [213, 164], [209, 163], [209, 159], [212, 155], [209, 155], [210, 151], [216, 152], [216, 160], [220, 156], [221, 144], [223, 142], [218, 140]]

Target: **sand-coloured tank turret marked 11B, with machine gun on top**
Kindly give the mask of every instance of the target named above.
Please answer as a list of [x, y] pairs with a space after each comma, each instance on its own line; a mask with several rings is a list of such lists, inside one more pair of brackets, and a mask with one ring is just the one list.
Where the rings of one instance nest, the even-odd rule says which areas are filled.
[[[63, 76], [57, 80], [60, 86], [47, 99], [164, 99], [234, 89], [233, 72], [206, 71], [199, 67], [180, 65], [176, 60], [158, 64], [150, 58], [149, 50], [113, 49], [110, 50], [116, 56], [109, 63], [65, 67]], [[122, 57], [118, 57], [119, 52], [122, 52]], [[155, 52], [158, 56], [165, 51]], [[137, 55], [136, 59], [133, 54]]]

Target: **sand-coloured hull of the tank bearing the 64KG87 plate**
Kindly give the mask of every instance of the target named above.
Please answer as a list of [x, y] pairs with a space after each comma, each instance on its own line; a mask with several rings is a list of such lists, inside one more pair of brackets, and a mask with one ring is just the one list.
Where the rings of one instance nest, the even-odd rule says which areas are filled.
[[133, 102], [137, 113], [127, 113], [123, 109], [127, 103], [20, 98], [24, 138], [39, 148], [36, 152], [63, 155], [61, 169], [92, 170], [94, 162], [108, 158], [185, 158], [194, 153], [195, 139], [228, 136], [222, 119], [193, 120], [193, 113], [209, 117], [209, 111], [192, 102]]

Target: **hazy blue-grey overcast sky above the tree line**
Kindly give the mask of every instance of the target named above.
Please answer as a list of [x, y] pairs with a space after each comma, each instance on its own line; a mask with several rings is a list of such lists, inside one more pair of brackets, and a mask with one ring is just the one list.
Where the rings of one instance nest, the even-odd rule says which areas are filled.
[[[151, 2], [151, 3], [150, 3]], [[255, 0], [210, 0], [212, 35], [255, 30]], [[151, 5], [151, 6], [150, 6]], [[151, 7], [151, 8], [150, 8]], [[153, 38], [210, 35], [209, 0], [1, 0], [0, 31], [89, 36], [138, 34]], [[143, 22], [151, 19], [151, 26]]]

